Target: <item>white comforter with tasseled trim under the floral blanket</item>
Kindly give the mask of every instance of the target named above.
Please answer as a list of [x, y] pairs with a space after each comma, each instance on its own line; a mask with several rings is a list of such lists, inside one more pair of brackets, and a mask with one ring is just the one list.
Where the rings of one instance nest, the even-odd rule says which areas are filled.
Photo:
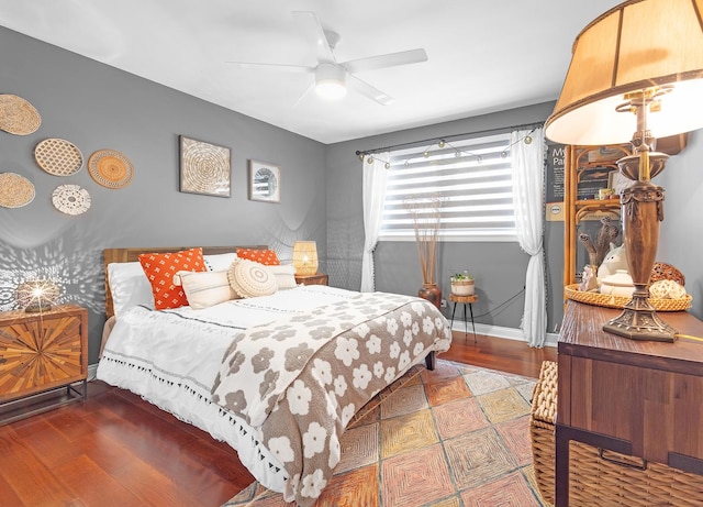
[[243, 330], [356, 296], [358, 293], [334, 287], [301, 286], [201, 310], [183, 307], [154, 311], [132, 307], [120, 315], [110, 333], [98, 365], [98, 378], [132, 390], [213, 438], [226, 441], [264, 486], [283, 492], [288, 474], [259, 442], [259, 431], [212, 403], [215, 376], [233, 338]]

